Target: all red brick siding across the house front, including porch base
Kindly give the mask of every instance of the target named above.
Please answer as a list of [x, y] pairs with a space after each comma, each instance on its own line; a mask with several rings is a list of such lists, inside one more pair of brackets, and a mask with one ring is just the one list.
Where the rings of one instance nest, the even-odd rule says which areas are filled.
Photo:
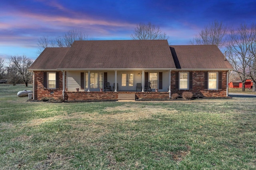
[[[192, 90], [176, 90], [176, 72], [171, 72], [171, 94], [178, 93], [182, 95], [182, 92], [189, 91], [193, 93], [193, 97], [226, 97], [226, 80], [227, 71], [222, 71], [222, 89], [219, 90], [207, 90], [204, 89], [204, 72], [205, 71], [193, 71], [192, 72]], [[44, 72], [34, 71], [34, 93], [35, 99], [41, 100], [43, 97], [52, 97], [54, 99], [62, 99], [62, 72], [59, 72], [59, 87], [56, 89], [44, 88]], [[136, 98], [141, 99], [168, 99], [168, 92], [119, 92], [119, 93], [136, 93]], [[86, 100], [117, 100], [117, 92], [65, 92], [65, 100], [67, 101], [86, 101]]]

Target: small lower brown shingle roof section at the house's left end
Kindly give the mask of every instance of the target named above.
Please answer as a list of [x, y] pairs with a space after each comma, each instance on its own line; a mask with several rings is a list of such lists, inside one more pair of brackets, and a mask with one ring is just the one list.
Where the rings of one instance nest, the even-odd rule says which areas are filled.
[[44, 51], [37, 57], [36, 61], [30, 66], [29, 70], [57, 69], [68, 52], [68, 49], [68, 47], [50, 47], [44, 49]]

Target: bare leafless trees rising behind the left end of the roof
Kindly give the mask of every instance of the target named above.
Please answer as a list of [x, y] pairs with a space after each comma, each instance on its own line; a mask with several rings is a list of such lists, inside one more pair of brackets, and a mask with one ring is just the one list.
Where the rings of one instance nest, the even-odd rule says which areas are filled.
[[64, 36], [57, 36], [53, 39], [41, 37], [38, 39], [38, 54], [42, 53], [47, 47], [71, 47], [76, 40], [87, 40], [88, 35], [77, 29], [70, 29]]

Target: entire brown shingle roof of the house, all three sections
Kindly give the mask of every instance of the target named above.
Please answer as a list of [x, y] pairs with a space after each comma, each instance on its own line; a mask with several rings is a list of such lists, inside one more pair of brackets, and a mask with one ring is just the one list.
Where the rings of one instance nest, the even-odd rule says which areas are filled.
[[29, 69], [136, 68], [233, 69], [216, 45], [169, 46], [167, 40], [74, 41], [69, 48], [46, 48]]

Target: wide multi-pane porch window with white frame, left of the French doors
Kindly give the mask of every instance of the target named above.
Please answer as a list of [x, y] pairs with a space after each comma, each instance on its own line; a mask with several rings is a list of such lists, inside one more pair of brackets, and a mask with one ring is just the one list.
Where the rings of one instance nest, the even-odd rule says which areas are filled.
[[[88, 88], [88, 72], [85, 73], [85, 88]], [[103, 88], [103, 72], [90, 73], [90, 88]]]

